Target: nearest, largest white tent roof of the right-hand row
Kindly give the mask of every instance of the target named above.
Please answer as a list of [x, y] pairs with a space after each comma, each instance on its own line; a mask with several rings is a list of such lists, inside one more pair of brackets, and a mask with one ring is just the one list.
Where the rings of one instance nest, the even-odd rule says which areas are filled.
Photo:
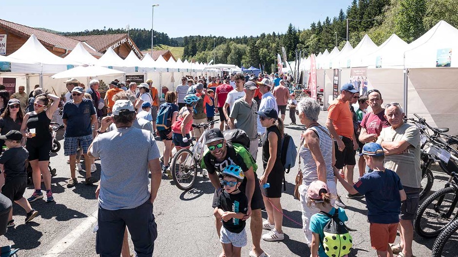
[[458, 57], [453, 58], [452, 50], [458, 50], [458, 29], [441, 20], [409, 44], [405, 51], [405, 67], [432, 68], [436, 67], [436, 62], [440, 64], [447, 58], [451, 58], [450, 67], [458, 67]]

